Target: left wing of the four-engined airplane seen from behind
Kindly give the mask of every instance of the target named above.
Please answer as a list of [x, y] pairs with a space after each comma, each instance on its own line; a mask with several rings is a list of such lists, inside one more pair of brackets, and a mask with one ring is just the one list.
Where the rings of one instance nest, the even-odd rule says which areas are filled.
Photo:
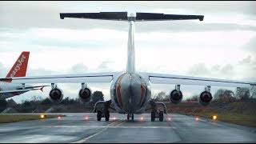
[[111, 82], [121, 72], [88, 73], [88, 74], [62, 74], [34, 77], [0, 78], [1, 82], [11, 83], [70, 83], [70, 82]]

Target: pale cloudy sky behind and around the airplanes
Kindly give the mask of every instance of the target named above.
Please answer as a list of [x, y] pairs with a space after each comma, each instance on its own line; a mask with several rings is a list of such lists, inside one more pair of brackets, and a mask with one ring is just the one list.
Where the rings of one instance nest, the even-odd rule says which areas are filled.
[[[204, 15], [204, 20], [135, 22], [135, 68], [141, 72], [256, 82], [254, 1], [0, 2], [0, 77], [22, 51], [30, 51], [26, 76], [125, 71], [128, 22], [60, 19], [59, 13], [127, 11]], [[39, 84], [33, 84], [34, 86]], [[110, 99], [110, 83], [88, 83]], [[78, 98], [80, 83], [58, 84], [64, 98]], [[183, 98], [205, 86], [181, 86]], [[152, 84], [152, 95], [174, 85]], [[212, 86], [235, 90], [234, 87]], [[50, 87], [13, 97], [48, 98]]]

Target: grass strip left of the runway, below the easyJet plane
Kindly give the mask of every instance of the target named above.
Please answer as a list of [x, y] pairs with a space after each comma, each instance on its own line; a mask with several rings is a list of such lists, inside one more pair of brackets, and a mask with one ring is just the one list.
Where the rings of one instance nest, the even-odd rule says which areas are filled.
[[[1, 114], [0, 115], [0, 123], [10, 123], [10, 122], [22, 122], [29, 120], [42, 119], [40, 118], [40, 114], [24, 114], [24, 115], [10, 115], [10, 114]], [[65, 115], [62, 115], [62, 117]], [[58, 115], [46, 115], [46, 118], [57, 118]]]

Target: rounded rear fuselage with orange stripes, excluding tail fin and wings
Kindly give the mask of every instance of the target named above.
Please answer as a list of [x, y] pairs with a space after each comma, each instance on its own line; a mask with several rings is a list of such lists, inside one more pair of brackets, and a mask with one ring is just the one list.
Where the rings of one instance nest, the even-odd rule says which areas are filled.
[[111, 101], [120, 114], [142, 114], [150, 101], [150, 83], [142, 75], [124, 73], [110, 88]]

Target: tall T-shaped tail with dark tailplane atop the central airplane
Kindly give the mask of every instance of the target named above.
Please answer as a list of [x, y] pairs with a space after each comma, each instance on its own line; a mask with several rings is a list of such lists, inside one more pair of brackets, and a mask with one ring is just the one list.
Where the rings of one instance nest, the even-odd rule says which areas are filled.
[[136, 13], [127, 16], [127, 12], [100, 12], [100, 13], [60, 13], [60, 18], [90, 18], [100, 20], [125, 21], [129, 22], [127, 65], [126, 73], [135, 73], [135, 50], [134, 50], [134, 22], [163, 21], [163, 20], [203, 20], [203, 15], [181, 15], [181, 14], [157, 14], [157, 13]]

